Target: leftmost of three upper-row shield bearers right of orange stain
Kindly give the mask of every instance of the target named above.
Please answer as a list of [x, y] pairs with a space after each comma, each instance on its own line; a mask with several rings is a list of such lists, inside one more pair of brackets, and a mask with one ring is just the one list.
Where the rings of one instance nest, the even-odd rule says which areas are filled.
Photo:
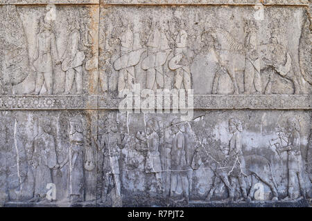
[[141, 58], [143, 48], [139, 44], [139, 36], [134, 35], [130, 23], [126, 24], [125, 31], [120, 37], [120, 57], [114, 61], [115, 70], [119, 70], [118, 91], [132, 90], [135, 86], [135, 65]]

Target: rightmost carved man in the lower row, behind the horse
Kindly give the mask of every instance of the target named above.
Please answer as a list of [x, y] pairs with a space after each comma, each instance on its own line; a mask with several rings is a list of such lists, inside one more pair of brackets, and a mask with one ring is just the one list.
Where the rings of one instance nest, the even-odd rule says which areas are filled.
[[[278, 153], [284, 151], [287, 152], [287, 167], [288, 167], [288, 195], [284, 200], [294, 200], [295, 199], [295, 185], [296, 180], [299, 184], [300, 193], [303, 198], [306, 198], [306, 191], [304, 187], [304, 180], [302, 179], [302, 155], [301, 155], [301, 141], [300, 141], [300, 124], [295, 117], [290, 117], [287, 120], [287, 129], [289, 136], [286, 137], [287, 146], [282, 146], [277, 148]], [[284, 137], [285, 139], [285, 137]]]

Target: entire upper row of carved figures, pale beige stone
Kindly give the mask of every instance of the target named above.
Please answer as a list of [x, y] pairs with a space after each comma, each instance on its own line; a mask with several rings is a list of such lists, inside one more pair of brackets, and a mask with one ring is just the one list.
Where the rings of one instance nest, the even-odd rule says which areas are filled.
[[[73, 10], [53, 5], [36, 12], [3, 7], [3, 95], [120, 94], [135, 84], [151, 90], [192, 88], [196, 94], [311, 92], [304, 50], [309, 35], [303, 31], [309, 22], [279, 26], [285, 21], [275, 12], [279, 9], [268, 10], [265, 20], [230, 12], [226, 17], [232, 22], [222, 23], [225, 16], [218, 16], [227, 9], [217, 15], [211, 9], [164, 8], [155, 9], [154, 17], [141, 9], [129, 19], [116, 8], [98, 27], [89, 12], [94, 8], [78, 10], [76, 17]], [[302, 35], [288, 39], [292, 29]]]

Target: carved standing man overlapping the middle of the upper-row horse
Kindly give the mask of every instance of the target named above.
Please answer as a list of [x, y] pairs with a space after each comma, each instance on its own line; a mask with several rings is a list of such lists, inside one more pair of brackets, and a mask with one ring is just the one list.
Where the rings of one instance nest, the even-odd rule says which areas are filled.
[[250, 20], [245, 25], [245, 94], [250, 94], [252, 86], [256, 93], [262, 93], [261, 75], [260, 75], [260, 59], [258, 51], [257, 27], [254, 21]]

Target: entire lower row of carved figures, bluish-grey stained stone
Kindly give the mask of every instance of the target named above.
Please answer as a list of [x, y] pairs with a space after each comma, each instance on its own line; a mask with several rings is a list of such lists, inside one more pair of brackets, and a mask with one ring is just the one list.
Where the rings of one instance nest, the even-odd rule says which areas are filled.
[[252, 124], [245, 113], [236, 115], [183, 121], [103, 113], [92, 132], [82, 113], [1, 114], [8, 122], [1, 127], [1, 202], [123, 206], [160, 199], [168, 206], [310, 198], [306, 116], [288, 114], [275, 125], [267, 122], [274, 116], [263, 119], [257, 137], [259, 117]]

